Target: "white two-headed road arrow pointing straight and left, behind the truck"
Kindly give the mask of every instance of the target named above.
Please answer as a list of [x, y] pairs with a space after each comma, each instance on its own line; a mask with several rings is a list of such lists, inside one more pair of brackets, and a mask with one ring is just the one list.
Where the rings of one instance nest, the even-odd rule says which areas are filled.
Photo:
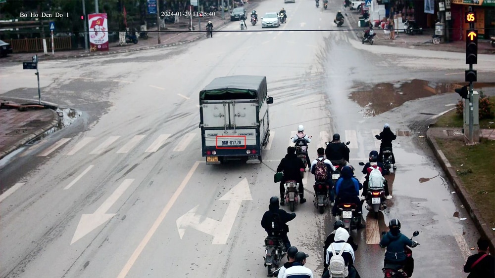
[[179, 217], [176, 221], [177, 230], [179, 231], [179, 236], [181, 239], [184, 236], [186, 228], [192, 227], [200, 232], [214, 236], [211, 244], [227, 244], [227, 239], [229, 238], [232, 227], [234, 226], [237, 213], [241, 208], [243, 200], [252, 200], [247, 178], [240, 181], [236, 186], [234, 186], [234, 188], [218, 200], [230, 201], [222, 221], [217, 221], [206, 217], [201, 223], [199, 223], [201, 216], [196, 215], [196, 211], [198, 210], [197, 205]]

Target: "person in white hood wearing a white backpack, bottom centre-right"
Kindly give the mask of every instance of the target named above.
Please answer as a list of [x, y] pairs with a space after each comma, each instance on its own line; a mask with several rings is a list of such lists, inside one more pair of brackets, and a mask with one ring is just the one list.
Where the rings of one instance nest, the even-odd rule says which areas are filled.
[[[354, 263], [355, 263], [354, 250], [352, 249], [352, 246], [348, 244], [347, 242], [348, 238], [349, 238], [349, 233], [347, 232], [346, 229], [342, 227], [337, 228], [337, 230], [335, 231], [335, 241], [329, 244], [329, 247], [327, 248], [327, 253], [325, 254], [325, 264], [326, 265], [330, 264], [330, 259], [334, 255], [332, 253], [332, 247], [333, 247], [335, 253], [341, 254], [342, 257], [344, 257], [344, 262], [349, 272], [347, 278], [360, 278], [356, 268], [354, 267]], [[330, 271], [326, 269], [323, 272], [323, 276], [321, 278], [330, 278]]]

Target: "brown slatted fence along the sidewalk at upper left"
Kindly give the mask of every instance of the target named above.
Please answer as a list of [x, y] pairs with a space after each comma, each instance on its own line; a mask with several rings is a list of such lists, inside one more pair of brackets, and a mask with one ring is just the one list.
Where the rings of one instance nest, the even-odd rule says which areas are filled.
[[[51, 38], [46, 38], [47, 49], [51, 51]], [[43, 51], [43, 39], [14, 39], [14, 40], [3, 40], [6, 43], [12, 45], [12, 51], [14, 53], [19, 52], [41, 52]], [[55, 50], [70, 50], [72, 49], [71, 37], [54, 37], [53, 44]]]

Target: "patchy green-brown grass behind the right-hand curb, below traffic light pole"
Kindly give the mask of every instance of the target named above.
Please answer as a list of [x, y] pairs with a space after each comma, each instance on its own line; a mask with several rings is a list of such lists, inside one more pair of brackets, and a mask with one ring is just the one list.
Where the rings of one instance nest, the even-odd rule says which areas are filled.
[[481, 138], [480, 144], [474, 146], [444, 138], [437, 138], [437, 142], [489, 228], [494, 228], [495, 141]]

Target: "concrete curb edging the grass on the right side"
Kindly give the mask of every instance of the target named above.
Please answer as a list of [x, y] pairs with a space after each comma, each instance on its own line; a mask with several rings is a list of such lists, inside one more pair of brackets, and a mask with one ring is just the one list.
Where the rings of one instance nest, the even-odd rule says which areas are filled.
[[462, 182], [457, 176], [455, 169], [453, 169], [453, 167], [446, 159], [442, 150], [440, 150], [436, 137], [432, 135], [432, 129], [443, 130], [445, 128], [433, 127], [428, 129], [428, 131], [426, 132], [426, 139], [428, 145], [432, 148], [432, 151], [435, 154], [437, 160], [439, 161], [440, 166], [444, 170], [448, 181], [454, 187], [457, 196], [459, 196], [459, 199], [461, 200], [462, 204], [469, 213], [469, 216], [471, 216], [471, 219], [473, 220], [474, 225], [478, 229], [479, 233], [481, 234], [482, 237], [488, 238], [488, 240], [490, 240], [490, 250], [495, 250], [494, 249], [495, 237], [493, 236], [493, 231], [490, 229], [490, 227], [487, 226], [486, 223], [484, 223], [483, 218], [481, 218], [480, 211], [476, 207], [476, 204], [474, 203], [469, 193], [462, 185]]

